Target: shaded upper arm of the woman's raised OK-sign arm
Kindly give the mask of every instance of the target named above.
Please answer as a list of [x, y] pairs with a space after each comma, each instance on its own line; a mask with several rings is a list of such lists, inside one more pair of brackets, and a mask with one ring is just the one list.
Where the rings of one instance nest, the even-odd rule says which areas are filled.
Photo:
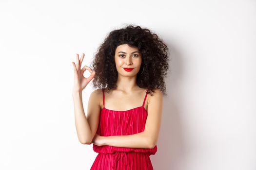
[[98, 129], [98, 121], [99, 121], [99, 114], [100, 114], [100, 94], [102, 95], [102, 92], [100, 92], [101, 89], [94, 90], [88, 101], [87, 106], [87, 121], [91, 128], [91, 139], [92, 141], [93, 137], [95, 136], [97, 129]]

